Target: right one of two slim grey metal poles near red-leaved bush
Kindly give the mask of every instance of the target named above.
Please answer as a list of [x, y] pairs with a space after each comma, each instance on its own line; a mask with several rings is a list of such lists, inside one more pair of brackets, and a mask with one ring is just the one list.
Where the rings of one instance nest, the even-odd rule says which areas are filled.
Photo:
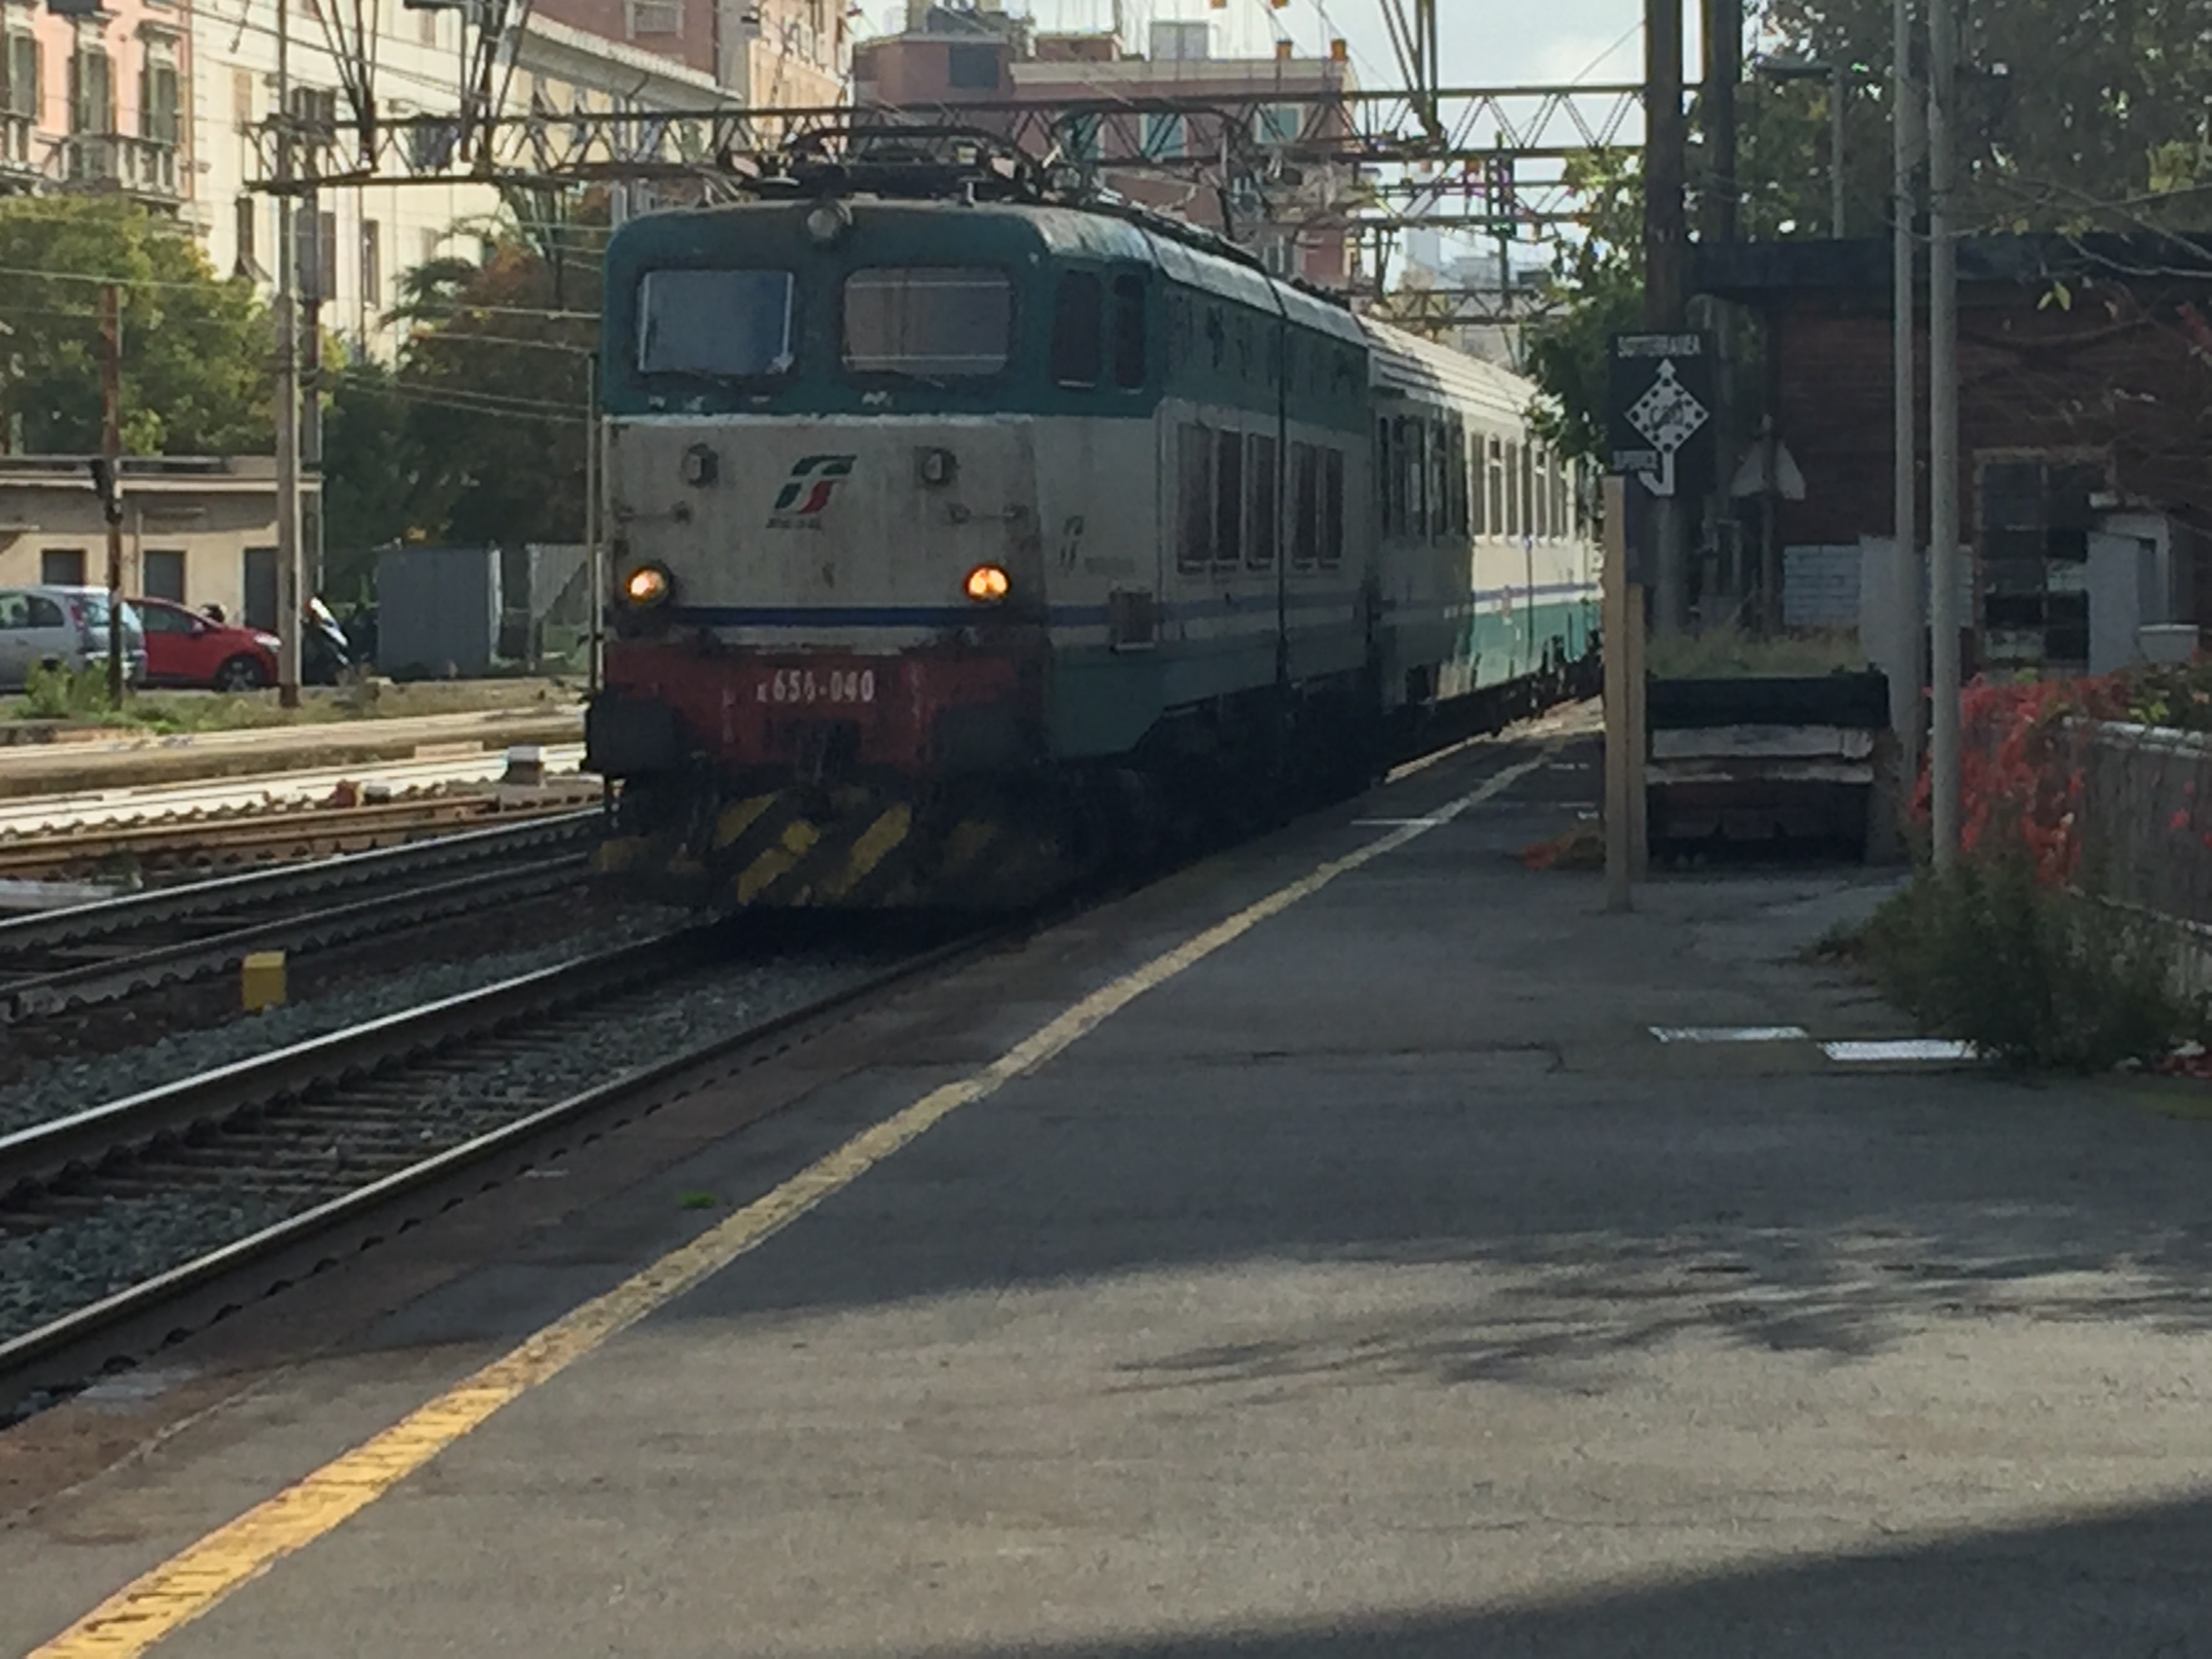
[[1929, 0], [1929, 803], [1938, 869], [1958, 858], [1960, 816], [1958, 232], [1951, 201], [1958, 186], [1951, 133], [1955, 88], [1955, 0]]

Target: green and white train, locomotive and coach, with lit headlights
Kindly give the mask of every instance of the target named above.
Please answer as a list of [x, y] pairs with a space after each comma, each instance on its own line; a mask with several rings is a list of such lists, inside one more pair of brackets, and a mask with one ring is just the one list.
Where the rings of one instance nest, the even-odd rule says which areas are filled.
[[606, 254], [626, 865], [1015, 905], [1559, 692], [1597, 564], [1531, 387], [1203, 232], [860, 190]]

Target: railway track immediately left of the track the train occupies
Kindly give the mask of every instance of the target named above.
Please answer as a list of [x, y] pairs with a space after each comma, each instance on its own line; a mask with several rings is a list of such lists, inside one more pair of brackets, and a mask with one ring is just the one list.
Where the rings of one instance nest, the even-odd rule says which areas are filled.
[[597, 810], [279, 865], [0, 922], [0, 1024], [186, 984], [252, 951], [451, 920], [584, 878]]

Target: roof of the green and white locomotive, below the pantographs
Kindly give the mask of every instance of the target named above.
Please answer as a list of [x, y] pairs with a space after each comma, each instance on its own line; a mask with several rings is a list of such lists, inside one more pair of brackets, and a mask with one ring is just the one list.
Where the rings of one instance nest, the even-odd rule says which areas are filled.
[[[1170, 281], [1221, 299], [1281, 312], [1301, 327], [1332, 334], [1352, 345], [1367, 345], [1360, 321], [1340, 301], [1298, 283], [1270, 276], [1259, 263], [1230, 243], [1199, 230], [1104, 208], [1051, 206], [1024, 201], [960, 201], [914, 197], [838, 197], [854, 217], [856, 230], [876, 226], [918, 228], [942, 221], [945, 215], [975, 215], [1002, 226], [1024, 226], [1035, 246], [1053, 257], [1119, 259], [1157, 265]], [[712, 208], [670, 208], [630, 219], [606, 248], [608, 263], [655, 257], [697, 259], [708, 252], [717, 232], [754, 223], [792, 226], [805, 219], [818, 197], [785, 201], [734, 201]]]

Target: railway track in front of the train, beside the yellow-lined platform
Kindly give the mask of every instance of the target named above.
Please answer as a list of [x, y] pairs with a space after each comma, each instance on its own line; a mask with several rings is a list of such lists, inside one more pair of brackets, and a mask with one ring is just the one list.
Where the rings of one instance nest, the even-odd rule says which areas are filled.
[[[254, 1261], [978, 942], [920, 942], [894, 960], [849, 953], [825, 978], [816, 962], [818, 991], [768, 991], [732, 1013], [726, 982], [743, 947], [728, 925], [690, 927], [0, 1135], [0, 1287], [84, 1281], [75, 1305], [33, 1305], [29, 1325], [22, 1303], [0, 1296], [0, 1420], [42, 1360], [88, 1352], [102, 1332]], [[781, 984], [790, 951], [750, 969]], [[622, 1042], [606, 1046], [611, 1033]], [[580, 1051], [626, 1064], [580, 1082]], [[223, 1237], [197, 1228], [142, 1252], [124, 1283], [82, 1267], [131, 1256], [117, 1239], [144, 1217], [175, 1234], [170, 1219], [195, 1206]]]

